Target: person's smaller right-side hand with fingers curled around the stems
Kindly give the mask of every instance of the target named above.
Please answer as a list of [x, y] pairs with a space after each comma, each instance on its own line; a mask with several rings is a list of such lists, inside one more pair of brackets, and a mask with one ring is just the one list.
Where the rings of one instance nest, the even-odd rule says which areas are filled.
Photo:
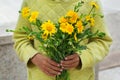
[[81, 60], [78, 54], [67, 56], [64, 61], [61, 61], [63, 69], [76, 68], [80, 66]]

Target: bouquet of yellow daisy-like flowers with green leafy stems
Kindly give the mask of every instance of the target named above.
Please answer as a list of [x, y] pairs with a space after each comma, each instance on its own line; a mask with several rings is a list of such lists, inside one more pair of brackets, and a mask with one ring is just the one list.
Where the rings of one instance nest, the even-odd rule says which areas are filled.
[[[91, 2], [91, 10], [88, 14], [81, 13], [78, 15], [79, 9], [84, 2], [79, 2], [74, 10], [68, 11], [64, 16], [60, 17], [56, 23], [48, 20], [42, 22], [38, 19], [38, 11], [30, 11], [29, 7], [24, 7], [19, 13], [23, 18], [27, 19], [31, 25], [38, 28], [38, 31], [32, 31], [28, 26], [23, 26], [19, 31], [7, 30], [8, 32], [25, 31], [29, 40], [37, 39], [41, 43], [40, 49], [45, 51], [47, 55], [57, 63], [68, 55], [75, 52], [81, 53], [87, 49], [86, 45], [82, 45], [84, 39], [103, 38], [105, 33], [97, 30], [91, 31], [91, 27], [95, 26], [95, 17], [101, 15], [96, 14], [99, 8], [96, 2]], [[67, 70], [63, 70], [61, 75], [56, 76], [56, 80], [70, 80]]]

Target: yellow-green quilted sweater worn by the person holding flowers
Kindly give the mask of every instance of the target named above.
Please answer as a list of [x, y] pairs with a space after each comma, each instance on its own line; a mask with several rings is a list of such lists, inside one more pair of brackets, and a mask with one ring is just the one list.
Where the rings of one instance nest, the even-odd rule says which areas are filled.
[[[32, 11], [39, 11], [39, 19], [46, 21], [48, 19], [52, 21], [57, 21], [57, 19], [65, 15], [68, 10], [73, 9], [74, 5], [80, 0], [24, 0], [22, 7], [28, 6]], [[89, 2], [96, 1], [99, 3], [99, 0], [83, 0], [85, 5], [80, 9], [82, 13], [88, 13], [90, 10]], [[98, 14], [102, 14], [102, 10], [97, 10]], [[103, 58], [108, 54], [110, 44], [112, 39], [106, 29], [104, 19], [100, 17], [95, 18], [95, 27], [92, 27], [92, 31], [100, 30], [106, 33], [105, 38], [95, 39], [89, 43], [85, 41], [88, 49], [82, 51], [80, 55], [82, 61], [81, 69], [70, 69], [70, 79], [71, 80], [94, 80], [94, 65], [103, 60]], [[16, 30], [28, 26], [33, 31], [36, 31], [37, 28], [31, 26], [29, 22], [19, 16]], [[38, 67], [33, 65], [28, 61], [36, 54], [42, 53], [39, 49], [40, 43], [35, 39], [33, 42], [29, 41], [26, 38], [27, 34], [25, 32], [14, 33], [14, 48], [19, 56], [19, 58], [26, 63], [28, 71], [28, 80], [55, 80], [55, 77], [50, 77], [44, 74]]]

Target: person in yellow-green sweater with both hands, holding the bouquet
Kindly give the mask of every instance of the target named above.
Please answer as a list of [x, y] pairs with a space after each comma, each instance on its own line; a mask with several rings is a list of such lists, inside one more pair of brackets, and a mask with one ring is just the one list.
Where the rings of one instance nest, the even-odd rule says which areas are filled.
[[[29, 7], [31, 11], [39, 11], [39, 18], [42, 21], [56, 22], [68, 10], [72, 10], [79, 1], [81, 0], [23, 0], [22, 8]], [[88, 13], [91, 1], [99, 3], [99, 0], [83, 1], [85, 5], [80, 9], [83, 13]], [[102, 14], [100, 7], [97, 13]], [[82, 51], [81, 55], [75, 53], [67, 56], [61, 63], [56, 63], [46, 56], [46, 53], [39, 50], [40, 43], [36, 39], [30, 41], [26, 38], [25, 32], [14, 33], [14, 47], [19, 58], [27, 65], [28, 80], [55, 80], [55, 76], [60, 75], [63, 69], [69, 71], [70, 80], [94, 80], [94, 65], [107, 55], [112, 42], [103, 18], [95, 17], [95, 21], [92, 31], [100, 30], [106, 36], [103, 39], [96, 38], [87, 42], [88, 49]], [[37, 30], [20, 15], [16, 30], [23, 26], [28, 26], [33, 31]]]

